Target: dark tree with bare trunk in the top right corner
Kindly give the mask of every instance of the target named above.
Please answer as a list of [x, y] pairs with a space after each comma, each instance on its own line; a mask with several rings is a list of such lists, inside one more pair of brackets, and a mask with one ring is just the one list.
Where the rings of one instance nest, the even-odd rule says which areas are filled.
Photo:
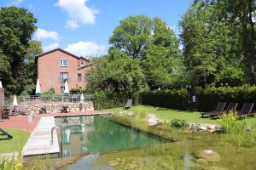
[[[208, 0], [202, 2], [206, 3]], [[240, 27], [236, 31], [240, 33], [242, 52], [246, 59], [251, 83], [255, 84], [255, 0], [210, 0], [209, 3], [216, 5], [215, 18], [212, 20], [224, 20], [229, 26]]]

